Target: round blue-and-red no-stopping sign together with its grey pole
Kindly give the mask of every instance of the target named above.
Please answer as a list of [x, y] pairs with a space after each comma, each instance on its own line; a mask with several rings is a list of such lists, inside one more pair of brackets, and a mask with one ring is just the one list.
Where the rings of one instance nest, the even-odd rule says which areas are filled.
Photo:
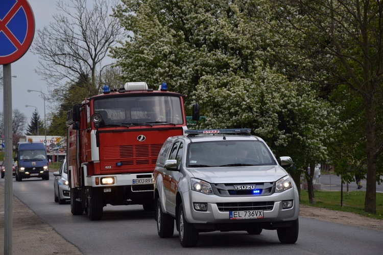
[[0, 65], [4, 74], [5, 130], [5, 217], [4, 254], [12, 254], [12, 72], [11, 63], [20, 59], [32, 44], [35, 18], [27, 0], [0, 0]]

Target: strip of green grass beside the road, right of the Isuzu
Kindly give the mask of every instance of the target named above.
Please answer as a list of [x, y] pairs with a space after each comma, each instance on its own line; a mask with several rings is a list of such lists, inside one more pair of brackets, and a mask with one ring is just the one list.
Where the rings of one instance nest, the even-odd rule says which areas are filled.
[[307, 190], [301, 189], [301, 205], [327, 208], [343, 212], [352, 212], [363, 216], [383, 220], [383, 193], [376, 193], [376, 214], [364, 211], [366, 191], [343, 192], [343, 207], [341, 207], [341, 191], [315, 190], [316, 204], [308, 203]]

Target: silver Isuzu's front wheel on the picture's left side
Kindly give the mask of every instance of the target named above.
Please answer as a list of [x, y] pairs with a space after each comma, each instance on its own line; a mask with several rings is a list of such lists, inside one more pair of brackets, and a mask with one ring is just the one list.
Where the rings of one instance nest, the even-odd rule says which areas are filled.
[[198, 230], [193, 224], [186, 221], [182, 203], [178, 209], [178, 229], [180, 234], [180, 243], [183, 247], [194, 247], [198, 243]]

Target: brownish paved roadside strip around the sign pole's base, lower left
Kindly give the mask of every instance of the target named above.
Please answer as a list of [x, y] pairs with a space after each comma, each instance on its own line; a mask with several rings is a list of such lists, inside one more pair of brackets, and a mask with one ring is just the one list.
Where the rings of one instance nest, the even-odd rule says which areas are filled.
[[[5, 189], [0, 185], [0, 254], [4, 252]], [[29, 207], [13, 196], [12, 255], [82, 255]]]

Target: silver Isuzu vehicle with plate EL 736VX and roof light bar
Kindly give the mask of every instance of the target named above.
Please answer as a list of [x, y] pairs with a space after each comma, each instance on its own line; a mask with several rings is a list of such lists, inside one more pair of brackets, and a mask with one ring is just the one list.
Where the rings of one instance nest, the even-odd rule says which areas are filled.
[[276, 230], [279, 241], [295, 243], [299, 232], [297, 186], [250, 129], [188, 130], [169, 137], [156, 162], [155, 217], [161, 238], [174, 223], [184, 247], [196, 246], [201, 232]]

